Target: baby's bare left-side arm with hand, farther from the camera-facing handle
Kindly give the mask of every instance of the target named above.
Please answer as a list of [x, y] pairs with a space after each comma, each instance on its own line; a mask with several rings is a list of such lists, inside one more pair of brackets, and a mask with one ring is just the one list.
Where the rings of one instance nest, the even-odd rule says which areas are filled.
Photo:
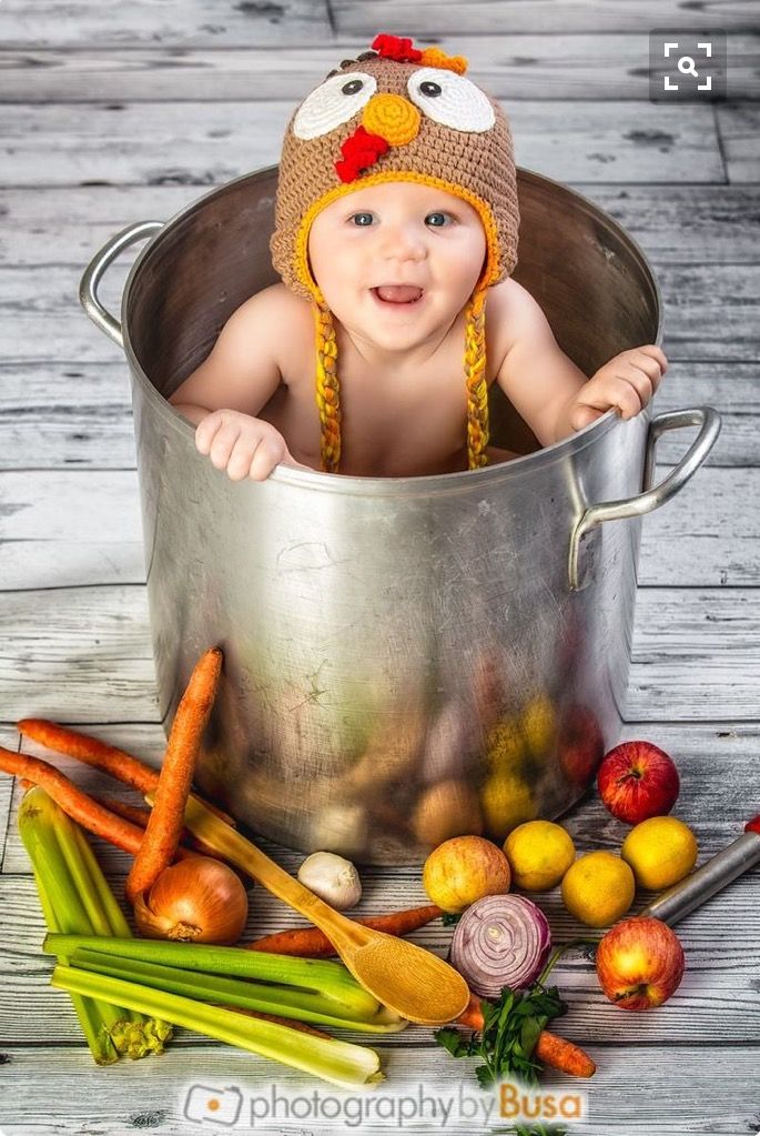
[[264, 481], [279, 462], [298, 465], [282, 435], [255, 415], [281, 377], [270, 350], [285, 318], [279, 290], [246, 300], [225, 324], [209, 357], [170, 395], [195, 431], [195, 445], [238, 482]]

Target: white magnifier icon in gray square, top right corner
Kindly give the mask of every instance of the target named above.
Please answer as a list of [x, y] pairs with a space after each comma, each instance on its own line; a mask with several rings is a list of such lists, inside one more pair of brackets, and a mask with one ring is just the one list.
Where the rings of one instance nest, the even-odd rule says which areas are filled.
[[650, 33], [650, 102], [716, 102], [725, 98], [725, 32], [657, 28]]

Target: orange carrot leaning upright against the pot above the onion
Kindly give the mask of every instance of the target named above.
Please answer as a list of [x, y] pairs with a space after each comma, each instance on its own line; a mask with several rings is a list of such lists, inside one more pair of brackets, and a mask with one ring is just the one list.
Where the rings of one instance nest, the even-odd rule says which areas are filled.
[[150, 891], [179, 846], [195, 760], [217, 694], [221, 662], [219, 648], [202, 654], [177, 707], [145, 836], [127, 876], [130, 903]]

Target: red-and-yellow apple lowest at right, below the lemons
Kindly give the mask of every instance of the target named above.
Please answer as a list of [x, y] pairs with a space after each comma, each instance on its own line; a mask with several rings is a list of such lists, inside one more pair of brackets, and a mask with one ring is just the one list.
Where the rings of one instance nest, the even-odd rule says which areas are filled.
[[624, 1010], [653, 1010], [678, 989], [684, 951], [660, 919], [635, 916], [616, 924], [597, 947], [597, 975], [610, 1002]]

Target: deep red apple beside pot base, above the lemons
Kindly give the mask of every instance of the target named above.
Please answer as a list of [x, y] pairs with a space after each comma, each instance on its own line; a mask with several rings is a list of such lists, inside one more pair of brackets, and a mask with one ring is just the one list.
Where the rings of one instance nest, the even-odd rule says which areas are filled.
[[678, 799], [678, 770], [651, 742], [623, 742], [602, 758], [599, 795], [618, 820], [637, 825], [664, 817]]

